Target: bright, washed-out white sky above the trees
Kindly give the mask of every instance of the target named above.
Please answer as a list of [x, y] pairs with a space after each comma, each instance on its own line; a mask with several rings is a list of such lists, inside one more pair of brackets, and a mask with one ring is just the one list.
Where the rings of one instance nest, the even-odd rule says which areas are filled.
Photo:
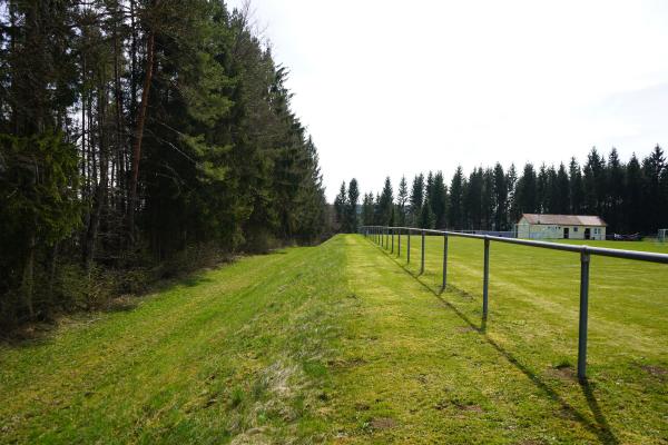
[[[240, 1], [232, 1], [232, 6]], [[341, 181], [668, 148], [668, 1], [253, 0]]]

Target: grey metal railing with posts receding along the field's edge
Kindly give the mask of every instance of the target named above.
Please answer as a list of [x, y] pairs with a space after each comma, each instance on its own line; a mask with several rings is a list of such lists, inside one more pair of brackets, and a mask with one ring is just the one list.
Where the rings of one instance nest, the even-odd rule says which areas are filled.
[[638, 261], [668, 264], [668, 255], [649, 251], [609, 249], [602, 247], [591, 247], [584, 245], [570, 245], [547, 241], [534, 241], [529, 239], [517, 239], [498, 237], [490, 235], [463, 234], [458, 231], [420, 229], [414, 227], [387, 227], [387, 226], [362, 226], [361, 233], [372, 238], [376, 244], [384, 248], [391, 248], [394, 253], [394, 238], [397, 237], [397, 254], [401, 256], [401, 236], [407, 235], [406, 259], [411, 263], [411, 236], [421, 235], [422, 251], [420, 259], [420, 273], [424, 273], [424, 237], [425, 235], [436, 235], [443, 237], [443, 283], [442, 289], [448, 284], [448, 239], [450, 237], [474, 238], [483, 241], [483, 278], [482, 278], [482, 318], [487, 320], [489, 309], [489, 285], [490, 285], [490, 244], [507, 243], [520, 246], [539, 247], [543, 249], [570, 251], [580, 254], [580, 316], [578, 328], [578, 378], [584, 382], [587, 378], [587, 323], [589, 309], [589, 263], [592, 255], [632, 259]]

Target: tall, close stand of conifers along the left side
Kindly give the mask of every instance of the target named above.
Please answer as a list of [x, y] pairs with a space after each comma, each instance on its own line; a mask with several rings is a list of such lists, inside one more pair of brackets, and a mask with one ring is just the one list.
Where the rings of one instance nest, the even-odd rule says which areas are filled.
[[174, 258], [317, 240], [286, 77], [220, 0], [0, 0], [0, 329]]

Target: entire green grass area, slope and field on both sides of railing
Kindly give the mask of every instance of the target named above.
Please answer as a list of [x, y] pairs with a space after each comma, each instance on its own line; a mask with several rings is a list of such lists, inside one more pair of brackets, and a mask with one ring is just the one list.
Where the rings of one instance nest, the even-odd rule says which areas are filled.
[[[0, 346], [1, 443], [668, 443], [668, 267], [361, 236], [244, 258]], [[601, 243], [597, 243], [601, 245]], [[668, 253], [655, 244], [608, 247]]]

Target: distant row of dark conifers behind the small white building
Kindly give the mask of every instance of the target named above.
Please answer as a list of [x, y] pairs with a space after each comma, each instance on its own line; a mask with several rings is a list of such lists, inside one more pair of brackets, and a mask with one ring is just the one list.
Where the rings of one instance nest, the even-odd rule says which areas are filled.
[[[409, 186], [402, 177], [396, 190], [387, 177], [380, 194], [362, 198], [355, 179], [341, 185], [334, 202], [341, 231], [358, 225], [395, 225], [452, 230], [513, 230], [522, 214], [601, 216], [608, 233], [656, 235], [668, 228], [668, 162], [659, 146], [642, 160], [622, 162], [616, 149], [606, 159], [596, 148], [580, 166], [527, 164], [504, 170], [461, 167], [446, 182], [436, 171], [420, 174]], [[361, 211], [360, 211], [361, 210]]]

